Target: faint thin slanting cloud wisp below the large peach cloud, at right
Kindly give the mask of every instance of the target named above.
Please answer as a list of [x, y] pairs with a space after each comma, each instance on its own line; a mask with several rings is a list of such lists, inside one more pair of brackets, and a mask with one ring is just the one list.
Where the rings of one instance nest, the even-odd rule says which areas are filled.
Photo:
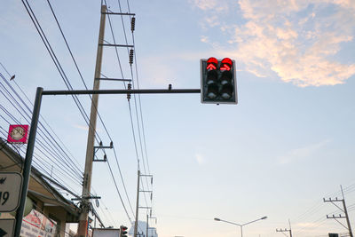
[[327, 146], [329, 142], [330, 140], [324, 140], [316, 144], [293, 149], [289, 151], [287, 154], [280, 156], [279, 163], [288, 164], [305, 158], [310, 158], [313, 154], [317, 153], [321, 148]]

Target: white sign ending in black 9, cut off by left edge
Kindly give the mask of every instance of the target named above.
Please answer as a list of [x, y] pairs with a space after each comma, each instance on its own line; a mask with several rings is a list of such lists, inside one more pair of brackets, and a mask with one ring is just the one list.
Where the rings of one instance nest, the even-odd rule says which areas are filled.
[[19, 207], [22, 176], [18, 172], [0, 172], [0, 212], [12, 212]]

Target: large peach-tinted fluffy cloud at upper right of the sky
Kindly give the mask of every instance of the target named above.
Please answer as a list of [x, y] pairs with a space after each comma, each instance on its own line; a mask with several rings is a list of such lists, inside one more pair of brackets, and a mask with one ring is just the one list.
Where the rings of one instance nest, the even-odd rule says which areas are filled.
[[299, 87], [342, 84], [355, 75], [354, 61], [336, 57], [345, 43], [353, 43], [353, 1], [240, 0], [239, 8], [243, 20], [228, 31], [228, 44], [204, 42], [219, 54], [232, 54], [245, 71]]

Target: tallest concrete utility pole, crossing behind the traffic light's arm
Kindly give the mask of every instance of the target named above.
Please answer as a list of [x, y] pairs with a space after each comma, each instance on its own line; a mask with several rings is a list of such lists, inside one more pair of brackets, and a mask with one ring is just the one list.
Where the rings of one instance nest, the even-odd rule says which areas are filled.
[[[99, 27], [99, 43], [98, 52], [96, 56], [96, 67], [95, 67], [95, 77], [93, 90], [99, 90], [99, 78], [101, 75], [101, 62], [102, 62], [102, 52], [105, 36], [105, 22], [106, 22], [106, 5], [101, 5], [101, 20]], [[91, 99], [91, 115], [89, 123], [89, 133], [88, 133], [88, 143], [86, 146], [86, 159], [85, 159], [85, 170], [83, 175], [83, 193], [82, 193], [82, 204], [83, 212], [79, 217], [78, 225], [78, 236], [86, 237], [88, 232], [88, 217], [90, 210], [90, 195], [91, 195], [91, 175], [92, 175], [92, 160], [94, 154], [94, 143], [95, 143], [95, 132], [96, 132], [96, 121], [98, 117], [98, 102], [99, 94], [92, 95]]]

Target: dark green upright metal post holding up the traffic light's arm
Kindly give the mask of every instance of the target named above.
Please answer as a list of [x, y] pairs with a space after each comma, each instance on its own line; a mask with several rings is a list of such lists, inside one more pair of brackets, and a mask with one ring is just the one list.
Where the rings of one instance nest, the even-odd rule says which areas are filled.
[[15, 237], [20, 237], [20, 233], [21, 233], [23, 212], [25, 210], [26, 196], [28, 194], [28, 182], [31, 174], [31, 163], [32, 163], [34, 149], [35, 149], [36, 130], [38, 125], [39, 111], [41, 109], [42, 91], [43, 91], [42, 87], [37, 87], [35, 105], [32, 111], [31, 128], [29, 130], [28, 148], [26, 151], [26, 158], [24, 164], [25, 167], [22, 172], [23, 184], [21, 189], [20, 206], [16, 211], [16, 225], [15, 225], [15, 235], [14, 235]]

